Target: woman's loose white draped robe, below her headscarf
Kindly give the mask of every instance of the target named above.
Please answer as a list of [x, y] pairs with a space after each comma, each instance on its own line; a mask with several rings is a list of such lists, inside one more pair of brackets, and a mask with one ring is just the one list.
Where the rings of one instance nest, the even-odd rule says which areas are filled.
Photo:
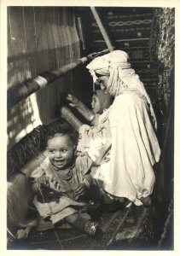
[[104, 115], [97, 127], [80, 129], [85, 151], [99, 165], [95, 177], [109, 194], [142, 205], [139, 199], [153, 192], [153, 166], [160, 160], [148, 102], [136, 90], [124, 90]]

